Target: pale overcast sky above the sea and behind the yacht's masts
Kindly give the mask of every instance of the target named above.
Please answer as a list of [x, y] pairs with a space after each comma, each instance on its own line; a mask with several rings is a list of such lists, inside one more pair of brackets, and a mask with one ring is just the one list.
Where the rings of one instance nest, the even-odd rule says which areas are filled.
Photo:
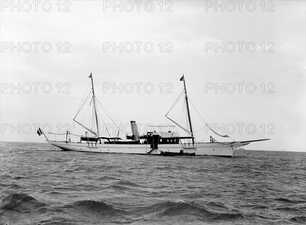
[[[186, 135], [149, 127], [171, 123], [184, 74], [197, 141], [267, 138], [246, 149], [305, 151], [305, 1], [13, 4], [1, 1], [1, 141], [43, 142], [38, 127], [84, 135], [72, 119], [91, 72], [121, 137], [131, 120], [140, 133]], [[88, 104], [76, 120], [90, 127]], [[115, 136], [99, 112], [103, 135]], [[188, 127], [184, 98], [168, 116]]]

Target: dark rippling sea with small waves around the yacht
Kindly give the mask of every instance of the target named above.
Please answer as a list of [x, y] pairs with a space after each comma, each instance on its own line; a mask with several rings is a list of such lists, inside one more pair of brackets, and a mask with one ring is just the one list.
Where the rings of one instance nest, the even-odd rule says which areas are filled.
[[1, 142], [1, 224], [305, 224], [305, 152], [236, 158]]

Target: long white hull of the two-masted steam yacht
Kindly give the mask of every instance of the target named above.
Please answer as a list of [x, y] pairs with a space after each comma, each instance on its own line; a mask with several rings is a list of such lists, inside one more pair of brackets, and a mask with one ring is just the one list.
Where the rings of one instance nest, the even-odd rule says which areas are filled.
[[[196, 156], [221, 156], [232, 157], [233, 153], [249, 142], [208, 142], [192, 144], [159, 144], [158, 148], [151, 149], [150, 144], [98, 144], [47, 141], [49, 144], [60, 147], [64, 151], [93, 152], [93, 153], [125, 153], [125, 154], [150, 154], [160, 155], [161, 151], [180, 153], [195, 153]], [[232, 147], [233, 146], [233, 147]]]

